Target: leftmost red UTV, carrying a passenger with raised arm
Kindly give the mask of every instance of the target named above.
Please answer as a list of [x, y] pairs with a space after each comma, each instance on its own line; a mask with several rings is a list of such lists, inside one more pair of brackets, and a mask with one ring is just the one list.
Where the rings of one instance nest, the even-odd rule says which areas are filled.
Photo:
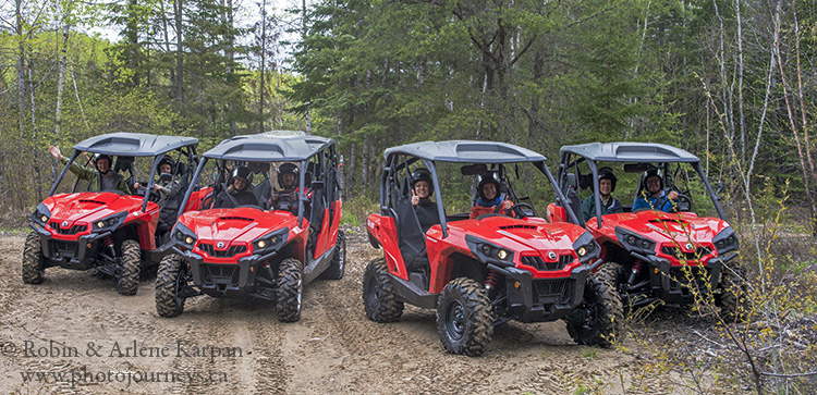
[[[114, 276], [117, 291], [134, 295], [139, 273], [156, 268], [170, 239], [170, 229], [183, 194], [178, 194], [159, 207], [154, 178], [158, 164], [172, 158], [172, 174], [161, 174], [184, 187], [196, 168], [196, 146], [192, 137], [153, 136], [136, 133], [112, 133], [88, 138], [74, 146], [68, 164], [57, 177], [48, 198], [32, 214], [33, 232], [25, 240], [23, 251], [23, 282], [42, 283], [46, 268], [62, 267], [73, 270], [96, 269]], [[93, 165], [94, 155], [114, 156], [112, 170], [125, 172], [129, 186], [134, 185], [137, 169], [148, 174], [145, 192], [134, 195], [121, 190], [90, 190], [92, 183], [80, 180], [72, 193], [54, 194], [69, 168], [76, 164]], [[137, 158], [148, 159], [136, 163]], [[74, 164], [74, 165], [76, 165]], [[181, 189], [181, 186], [180, 186]], [[181, 189], [184, 190], [184, 189]]]

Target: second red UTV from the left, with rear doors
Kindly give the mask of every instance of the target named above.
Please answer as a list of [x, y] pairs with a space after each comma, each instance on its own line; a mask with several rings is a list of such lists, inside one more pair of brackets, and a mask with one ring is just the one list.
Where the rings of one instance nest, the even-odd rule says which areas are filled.
[[[283, 172], [293, 168], [297, 188], [273, 189], [270, 171], [283, 188]], [[228, 174], [241, 174], [236, 169], [252, 173], [255, 200], [219, 208], [219, 197], [234, 185]], [[212, 185], [197, 189], [208, 178]], [[204, 205], [182, 213], [173, 227], [172, 254], [156, 281], [159, 316], [176, 317], [186, 298], [207, 294], [273, 301], [281, 321], [297, 321], [304, 284], [343, 277], [334, 140], [283, 132], [224, 140], [204, 153], [185, 200], [205, 193]]]

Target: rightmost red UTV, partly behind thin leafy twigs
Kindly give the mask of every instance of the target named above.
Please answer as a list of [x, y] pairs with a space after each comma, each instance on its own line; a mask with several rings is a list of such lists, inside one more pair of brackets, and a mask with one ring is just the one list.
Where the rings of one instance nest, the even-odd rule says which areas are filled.
[[[675, 201], [655, 200], [653, 206], [632, 210], [630, 200], [623, 212], [602, 214], [599, 198], [599, 169], [609, 166], [635, 173], [635, 198], [642, 196], [647, 175], [661, 177], [660, 186], [675, 190]], [[605, 169], [607, 171], [607, 169]], [[551, 203], [551, 221], [569, 221], [587, 229], [601, 246], [598, 268], [621, 293], [626, 308], [646, 306], [658, 299], [668, 304], [693, 303], [696, 295], [715, 296], [722, 317], [742, 319], [746, 303], [743, 271], [737, 254], [739, 240], [727, 223], [719, 197], [694, 155], [661, 144], [608, 143], [562, 147], [557, 173], [566, 200]], [[678, 185], [682, 180], [684, 186]], [[621, 183], [620, 181], [619, 183]], [[690, 190], [706, 189], [719, 218], [699, 217], [694, 211]], [[589, 190], [587, 190], [589, 189]], [[587, 190], [587, 193], [583, 193]], [[584, 196], [582, 196], [584, 195]], [[583, 218], [583, 199], [595, 199], [596, 211]], [[618, 196], [622, 196], [618, 194]], [[577, 219], [564, 213], [573, 208]], [[663, 208], [669, 211], [659, 211]]]

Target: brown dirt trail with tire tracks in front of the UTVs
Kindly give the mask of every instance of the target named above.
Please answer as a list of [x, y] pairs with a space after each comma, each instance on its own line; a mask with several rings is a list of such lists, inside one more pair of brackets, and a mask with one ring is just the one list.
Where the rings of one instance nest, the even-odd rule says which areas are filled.
[[7, 273], [0, 277], [0, 393], [684, 393], [647, 372], [648, 361], [632, 353], [634, 342], [624, 341], [629, 351], [578, 346], [561, 321], [499, 326], [478, 358], [443, 351], [434, 310], [406, 307], [401, 322], [370, 322], [361, 277], [382, 252], [359, 231], [350, 234], [344, 279], [308, 284], [295, 323], [278, 322], [267, 303], [207, 296], [188, 299], [179, 318], [162, 319], [154, 279], [142, 280], [133, 297], [119, 296], [110, 279], [54, 268], [41, 285], [26, 285], [23, 242], [0, 237]]

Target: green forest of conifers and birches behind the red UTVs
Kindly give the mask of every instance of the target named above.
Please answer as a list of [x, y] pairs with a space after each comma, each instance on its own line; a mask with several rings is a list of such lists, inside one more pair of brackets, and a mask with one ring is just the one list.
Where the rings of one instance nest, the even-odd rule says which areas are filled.
[[815, 230], [814, 2], [0, 5], [2, 212], [44, 198], [49, 145], [121, 131], [195, 136], [204, 151], [276, 128], [336, 138], [347, 200], [377, 199], [398, 144], [495, 139], [556, 160], [565, 144], [666, 143], [700, 156], [730, 199], [791, 196]]

